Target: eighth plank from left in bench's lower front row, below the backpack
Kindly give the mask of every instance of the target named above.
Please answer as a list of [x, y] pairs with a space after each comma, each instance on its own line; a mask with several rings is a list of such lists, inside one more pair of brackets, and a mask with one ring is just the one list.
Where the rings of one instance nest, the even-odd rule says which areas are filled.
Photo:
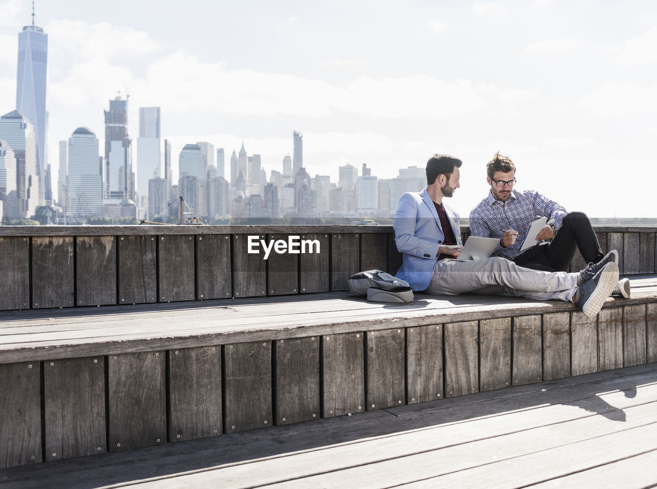
[[405, 329], [367, 331], [365, 407], [368, 411], [405, 403]]

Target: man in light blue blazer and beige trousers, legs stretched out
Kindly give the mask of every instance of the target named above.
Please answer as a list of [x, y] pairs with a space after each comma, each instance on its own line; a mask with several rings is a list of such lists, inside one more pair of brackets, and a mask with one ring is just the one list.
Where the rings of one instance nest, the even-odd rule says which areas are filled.
[[432, 156], [426, 164], [426, 189], [399, 198], [393, 227], [403, 264], [396, 276], [413, 291], [559, 299], [575, 302], [589, 317], [598, 314], [618, 281], [618, 253], [610, 252], [578, 273], [532, 270], [500, 257], [455, 260], [463, 249], [459, 214], [443, 204], [443, 198], [461, 187], [461, 164], [453, 156]]

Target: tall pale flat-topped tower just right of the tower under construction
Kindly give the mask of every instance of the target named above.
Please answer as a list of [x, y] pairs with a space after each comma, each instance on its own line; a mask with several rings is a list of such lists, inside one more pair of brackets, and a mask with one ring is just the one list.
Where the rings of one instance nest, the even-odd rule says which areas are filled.
[[139, 107], [137, 137], [137, 194], [148, 195], [148, 180], [162, 177], [160, 107]]

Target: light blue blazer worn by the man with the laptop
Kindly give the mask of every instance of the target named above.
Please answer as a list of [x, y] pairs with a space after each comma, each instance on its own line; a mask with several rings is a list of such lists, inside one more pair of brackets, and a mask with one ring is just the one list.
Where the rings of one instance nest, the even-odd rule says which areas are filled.
[[[444, 202], [443, 199], [452, 231], [461, 245], [459, 214]], [[395, 275], [407, 281], [414, 291], [424, 291], [431, 281], [438, 247], [445, 239], [436, 206], [426, 189], [399, 197], [392, 227], [395, 230], [397, 250], [403, 253], [403, 264]]]

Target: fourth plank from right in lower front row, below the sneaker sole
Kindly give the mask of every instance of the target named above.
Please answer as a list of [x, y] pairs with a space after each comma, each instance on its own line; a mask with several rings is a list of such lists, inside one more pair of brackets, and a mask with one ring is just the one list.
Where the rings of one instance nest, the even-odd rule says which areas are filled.
[[571, 374], [598, 371], [598, 318], [583, 312], [570, 313]]

